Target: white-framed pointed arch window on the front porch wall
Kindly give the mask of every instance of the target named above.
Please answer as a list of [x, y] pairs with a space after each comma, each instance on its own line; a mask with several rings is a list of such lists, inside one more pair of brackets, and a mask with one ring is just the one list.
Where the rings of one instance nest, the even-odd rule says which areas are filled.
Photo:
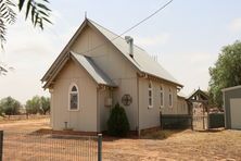
[[77, 85], [73, 84], [68, 92], [68, 110], [77, 111], [79, 109], [79, 91]]

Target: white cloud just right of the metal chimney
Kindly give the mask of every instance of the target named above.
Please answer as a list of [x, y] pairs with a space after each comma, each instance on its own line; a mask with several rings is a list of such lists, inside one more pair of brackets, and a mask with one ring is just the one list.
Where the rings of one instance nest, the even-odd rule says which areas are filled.
[[140, 36], [134, 36], [135, 44], [139, 46], [160, 46], [160, 45], [166, 45], [169, 41], [169, 34], [163, 33], [151, 37], [140, 37]]

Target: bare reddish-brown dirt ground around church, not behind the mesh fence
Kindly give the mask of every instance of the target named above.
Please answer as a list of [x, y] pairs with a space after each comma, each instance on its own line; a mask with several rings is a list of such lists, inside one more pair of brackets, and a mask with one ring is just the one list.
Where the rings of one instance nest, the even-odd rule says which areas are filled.
[[[26, 133], [48, 127], [48, 119], [0, 124], [0, 129], [5, 132]], [[192, 132], [187, 129], [172, 132], [172, 135], [165, 139], [104, 137], [103, 160], [241, 160], [241, 131]]]

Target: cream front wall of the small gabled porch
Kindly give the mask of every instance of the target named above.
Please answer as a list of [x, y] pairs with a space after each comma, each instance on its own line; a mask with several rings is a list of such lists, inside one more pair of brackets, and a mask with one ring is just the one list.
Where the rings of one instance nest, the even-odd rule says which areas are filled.
[[[76, 84], [79, 90], [79, 110], [68, 110], [68, 89]], [[52, 127], [63, 129], [64, 122], [74, 131], [97, 132], [97, 84], [74, 61], [69, 60], [55, 78], [52, 92]]]

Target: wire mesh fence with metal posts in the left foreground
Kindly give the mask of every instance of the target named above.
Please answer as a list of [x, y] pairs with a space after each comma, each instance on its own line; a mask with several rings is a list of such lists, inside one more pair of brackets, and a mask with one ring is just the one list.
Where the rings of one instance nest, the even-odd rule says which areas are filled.
[[102, 135], [0, 133], [2, 161], [101, 161]]

